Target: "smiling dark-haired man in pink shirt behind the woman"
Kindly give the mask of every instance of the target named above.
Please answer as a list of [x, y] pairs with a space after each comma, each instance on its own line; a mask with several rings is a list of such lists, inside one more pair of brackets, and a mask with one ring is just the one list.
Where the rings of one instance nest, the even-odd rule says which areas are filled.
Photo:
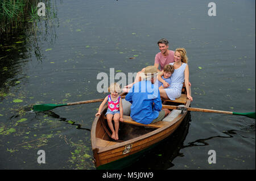
[[160, 39], [158, 41], [158, 46], [160, 52], [155, 55], [155, 64], [154, 66], [158, 69], [160, 65], [160, 70], [162, 71], [164, 68], [164, 65], [170, 64], [174, 62], [174, 51], [168, 50], [168, 40], [166, 39]]

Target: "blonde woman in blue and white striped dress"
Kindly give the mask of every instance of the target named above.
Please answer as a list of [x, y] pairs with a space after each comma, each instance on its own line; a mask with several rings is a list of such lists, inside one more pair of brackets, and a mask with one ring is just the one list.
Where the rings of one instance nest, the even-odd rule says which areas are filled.
[[[189, 70], [187, 64], [187, 52], [184, 48], [177, 48], [174, 54], [174, 73], [171, 75], [171, 85], [167, 89], [159, 89], [160, 96], [164, 99], [175, 100], [181, 95], [181, 89], [185, 80], [185, 87], [187, 89], [187, 98], [193, 100], [189, 89]], [[163, 82], [161, 78], [163, 73], [159, 73], [158, 79]], [[164, 82], [163, 82], [164, 83]]]

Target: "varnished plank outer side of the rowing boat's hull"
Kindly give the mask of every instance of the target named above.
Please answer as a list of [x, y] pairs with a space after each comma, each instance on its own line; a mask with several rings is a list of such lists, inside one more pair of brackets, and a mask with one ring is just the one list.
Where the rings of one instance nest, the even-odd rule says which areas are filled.
[[[164, 138], [170, 136], [179, 127], [180, 123], [183, 121], [186, 114], [187, 111], [183, 111], [183, 113], [180, 113], [179, 116], [177, 116], [175, 120], [172, 121], [172, 123], [170, 123], [170, 125], [163, 128], [155, 129], [152, 132], [149, 132], [147, 134], [144, 134], [143, 136], [139, 136], [128, 141], [118, 142], [115, 143], [114, 145], [106, 147], [98, 146], [100, 144], [97, 144], [97, 141], [95, 141], [96, 144], [92, 143], [92, 148], [96, 168], [110, 169], [110, 167], [112, 167], [113, 169], [118, 169], [118, 167], [121, 167], [121, 165], [119, 164], [121, 164], [122, 159], [126, 157], [128, 158], [128, 160], [130, 160], [127, 163], [123, 162], [123, 164], [129, 165], [130, 162], [134, 162], [134, 160], [137, 159], [137, 157], [139, 157], [141, 153], [144, 153], [144, 151], [146, 151], [148, 148], [164, 140]], [[102, 122], [100, 121], [100, 119], [94, 120], [93, 124], [96, 124], [93, 125], [94, 127], [102, 126]], [[97, 136], [96, 132], [93, 132], [92, 130], [92, 138], [93, 137], [96, 138]], [[129, 150], [127, 150], [127, 148]], [[133, 155], [133, 157], [131, 157], [130, 155]]]

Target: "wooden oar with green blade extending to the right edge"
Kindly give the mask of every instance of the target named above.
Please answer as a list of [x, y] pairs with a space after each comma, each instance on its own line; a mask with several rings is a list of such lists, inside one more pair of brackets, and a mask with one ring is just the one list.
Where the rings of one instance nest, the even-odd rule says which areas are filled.
[[218, 111], [218, 110], [207, 110], [203, 108], [193, 108], [193, 107], [178, 107], [178, 106], [169, 106], [163, 105], [163, 108], [171, 109], [171, 110], [181, 110], [181, 111], [197, 111], [197, 112], [213, 112], [213, 113], [225, 113], [229, 115], [240, 115], [246, 116], [255, 119], [255, 112], [231, 112], [231, 111]]

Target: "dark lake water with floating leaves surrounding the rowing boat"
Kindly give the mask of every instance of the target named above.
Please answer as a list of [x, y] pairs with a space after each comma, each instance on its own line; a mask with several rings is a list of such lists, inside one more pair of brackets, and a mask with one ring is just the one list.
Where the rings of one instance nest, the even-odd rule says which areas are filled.
[[[100, 103], [40, 113], [32, 104], [103, 98], [97, 74], [153, 65], [162, 37], [187, 50], [191, 107], [254, 112], [255, 1], [214, 1], [217, 16], [208, 16], [209, 2], [52, 1], [56, 17], [42, 18], [36, 36], [28, 26], [1, 37], [0, 169], [95, 169], [88, 129]], [[255, 169], [255, 120], [191, 112], [135, 167]]]

